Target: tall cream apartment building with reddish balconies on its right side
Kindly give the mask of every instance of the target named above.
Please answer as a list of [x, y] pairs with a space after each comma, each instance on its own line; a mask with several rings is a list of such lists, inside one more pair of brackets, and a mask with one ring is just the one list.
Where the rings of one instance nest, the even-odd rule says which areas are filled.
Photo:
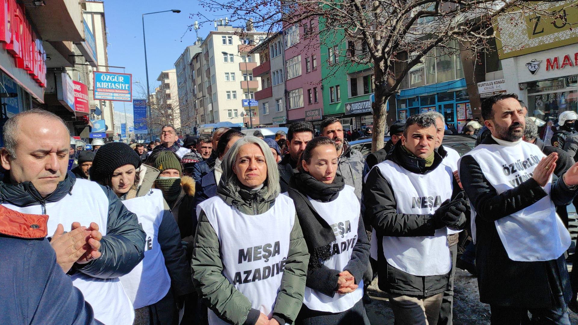
[[[253, 76], [260, 58], [250, 50], [265, 39], [266, 33], [247, 31], [240, 37], [236, 32], [238, 28], [218, 25], [201, 43], [204, 80], [199, 104], [206, 108], [205, 123], [259, 124], [257, 105], [243, 106], [242, 99], [253, 99], [254, 104], [255, 93], [261, 90], [261, 80]], [[198, 86], [198, 80], [195, 82]]]

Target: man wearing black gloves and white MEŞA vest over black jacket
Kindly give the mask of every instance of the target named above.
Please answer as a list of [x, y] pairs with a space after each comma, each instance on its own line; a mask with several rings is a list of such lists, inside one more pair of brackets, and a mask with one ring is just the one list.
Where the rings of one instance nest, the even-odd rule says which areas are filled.
[[365, 178], [364, 219], [380, 237], [372, 240], [379, 288], [399, 325], [438, 322], [451, 270], [447, 230], [466, 224], [461, 189], [434, 150], [436, 131], [433, 117], [410, 116], [401, 141]]

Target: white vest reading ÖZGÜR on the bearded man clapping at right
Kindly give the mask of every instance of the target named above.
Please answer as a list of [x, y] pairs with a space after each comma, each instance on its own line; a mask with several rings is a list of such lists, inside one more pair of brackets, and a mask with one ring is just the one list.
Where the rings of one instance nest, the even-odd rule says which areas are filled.
[[[476, 160], [484, 177], [498, 195], [532, 178], [536, 165], [545, 157], [538, 146], [524, 141], [511, 147], [498, 144], [479, 145], [465, 156], [472, 156]], [[494, 221], [511, 260], [555, 260], [570, 246], [570, 234], [556, 214], [554, 202], [550, 198], [551, 186], [550, 177], [544, 186], [548, 195], [528, 208]], [[472, 205], [472, 210], [473, 208]], [[475, 236], [475, 213], [472, 213], [472, 216], [472, 232]]]

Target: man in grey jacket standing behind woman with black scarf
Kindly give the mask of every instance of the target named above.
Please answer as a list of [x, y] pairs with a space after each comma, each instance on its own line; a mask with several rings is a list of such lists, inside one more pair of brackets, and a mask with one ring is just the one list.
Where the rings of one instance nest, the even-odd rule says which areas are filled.
[[364, 157], [361, 152], [349, 146], [349, 142], [343, 137], [343, 127], [336, 117], [329, 117], [321, 122], [319, 127], [321, 136], [335, 141], [339, 165], [337, 172], [343, 176], [345, 184], [355, 188], [355, 195], [361, 200], [361, 186], [363, 182]]

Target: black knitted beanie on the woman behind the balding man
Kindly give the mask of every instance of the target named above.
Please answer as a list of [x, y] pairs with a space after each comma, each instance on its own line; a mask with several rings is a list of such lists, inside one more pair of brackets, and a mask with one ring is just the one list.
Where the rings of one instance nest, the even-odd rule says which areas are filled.
[[142, 159], [131, 146], [123, 142], [106, 143], [98, 149], [92, 160], [92, 167], [89, 169], [90, 180], [103, 183], [115, 169], [129, 164], [135, 168], [139, 168], [142, 164]]

